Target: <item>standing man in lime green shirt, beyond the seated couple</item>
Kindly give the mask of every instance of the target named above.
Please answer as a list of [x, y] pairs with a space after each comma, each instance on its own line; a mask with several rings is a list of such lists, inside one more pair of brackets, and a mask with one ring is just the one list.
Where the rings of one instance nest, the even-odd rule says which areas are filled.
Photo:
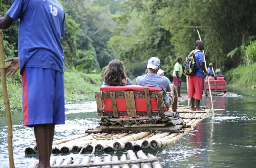
[[184, 74], [182, 72], [183, 69], [182, 69], [181, 62], [182, 62], [182, 58], [180, 56], [177, 57], [177, 62], [174, 65], [174, 69], [172, 73], [174, 85], [177, 86], [178, 97], [180, 97], [181, 76], [182, 74]]

